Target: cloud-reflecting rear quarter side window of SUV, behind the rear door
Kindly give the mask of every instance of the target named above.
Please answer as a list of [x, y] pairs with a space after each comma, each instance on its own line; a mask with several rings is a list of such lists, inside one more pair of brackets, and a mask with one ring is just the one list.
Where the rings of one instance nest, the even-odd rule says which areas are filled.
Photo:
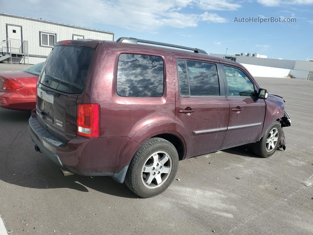
[[117, 68], [117, 94], [126, 97], [163, 95], [163, 59], [153, 55], [121, 54]]

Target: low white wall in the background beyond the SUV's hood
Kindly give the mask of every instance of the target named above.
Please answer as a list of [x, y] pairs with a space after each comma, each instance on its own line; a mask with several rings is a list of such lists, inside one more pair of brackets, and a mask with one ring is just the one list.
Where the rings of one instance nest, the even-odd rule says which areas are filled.
[[274, 68], [260, 65], [249, 65], [241, 63], [252, 76], [256, 77], [285, 77], [289, 74], [290, 69]]

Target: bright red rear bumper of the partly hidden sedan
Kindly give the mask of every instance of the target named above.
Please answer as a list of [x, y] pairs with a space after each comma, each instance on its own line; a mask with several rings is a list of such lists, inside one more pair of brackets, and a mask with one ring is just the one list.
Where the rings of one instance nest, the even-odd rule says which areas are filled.
[[0, 107], [13, 110], [33, 110], [36, 107], [36, 98], [16, 99], [0, 96]]

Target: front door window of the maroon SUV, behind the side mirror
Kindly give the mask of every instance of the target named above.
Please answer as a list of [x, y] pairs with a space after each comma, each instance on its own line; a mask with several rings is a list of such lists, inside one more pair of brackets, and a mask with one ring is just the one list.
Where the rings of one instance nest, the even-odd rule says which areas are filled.
[[225, 65], [224, 70], [230, 96], [255, 96], [254, 84], [243, 71]]

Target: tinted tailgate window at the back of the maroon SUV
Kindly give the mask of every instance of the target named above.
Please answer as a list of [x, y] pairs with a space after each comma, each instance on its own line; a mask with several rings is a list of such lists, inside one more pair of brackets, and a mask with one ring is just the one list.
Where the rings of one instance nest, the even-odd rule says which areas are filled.
[[93, 49], [55, 46], [46, 60], [39, 82], [52, 89], [75, 94], [84, 90]]

